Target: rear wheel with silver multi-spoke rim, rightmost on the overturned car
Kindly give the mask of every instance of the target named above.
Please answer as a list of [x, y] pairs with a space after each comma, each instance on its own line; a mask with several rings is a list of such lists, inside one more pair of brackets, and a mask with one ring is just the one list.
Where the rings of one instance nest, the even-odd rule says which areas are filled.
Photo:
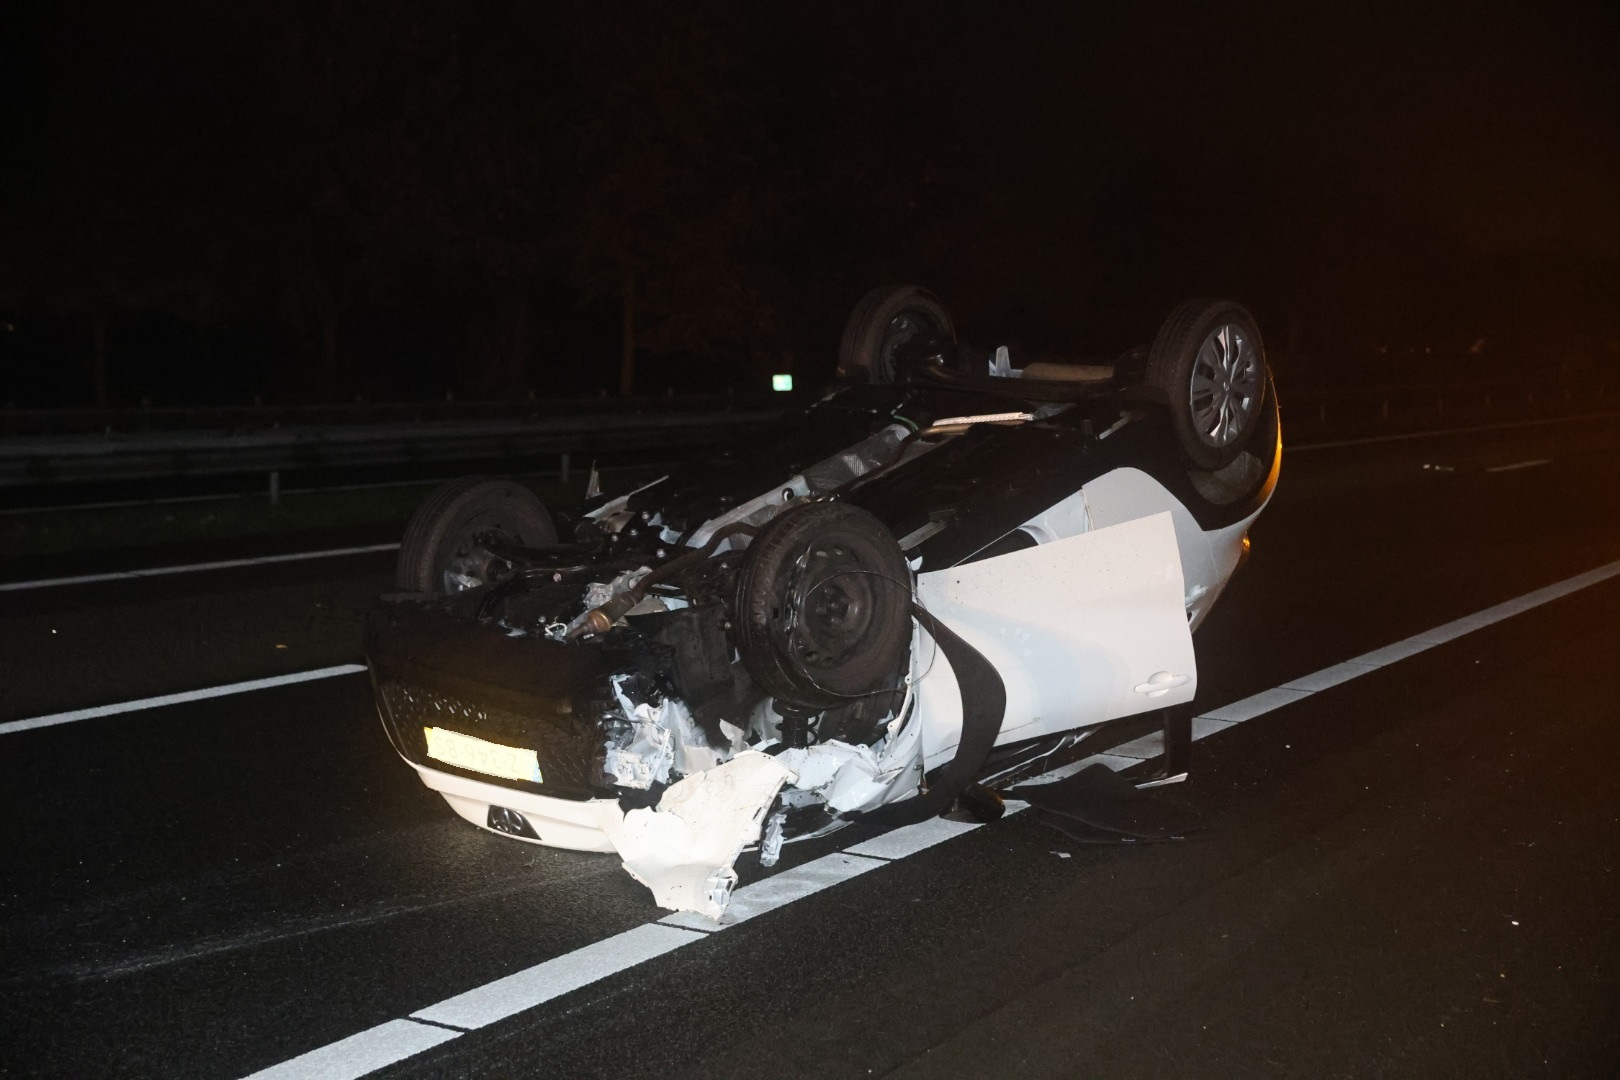
[[1187, 466], [1217, 470], [1260, 426], [1265, 402], [1260, 329], [1230, 300], [1189, 300], [1165, 319], [1147, 355], [1147, 382], [1168, 402]]

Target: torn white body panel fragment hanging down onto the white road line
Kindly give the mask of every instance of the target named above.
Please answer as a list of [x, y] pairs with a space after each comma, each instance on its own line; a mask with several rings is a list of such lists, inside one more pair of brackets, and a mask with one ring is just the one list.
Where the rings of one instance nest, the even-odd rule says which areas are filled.
[[760, 839], [766, 811], [792, 777], [776, 758], [744, 751], [672, 784], [656, 810], [624, 814], [609, 826], [612, 845], [659, 907], [718, 921], [737, 884], [737, 855]]

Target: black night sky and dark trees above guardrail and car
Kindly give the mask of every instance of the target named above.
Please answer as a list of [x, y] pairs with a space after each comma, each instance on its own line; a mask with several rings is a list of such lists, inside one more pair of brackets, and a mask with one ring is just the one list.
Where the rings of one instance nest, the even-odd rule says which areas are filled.
[[983, 338], [1111, 348], [1220, 291], [1285, 368], [1615, 363], [1605, 5], [3, 18], [0, 400], [91, 395], [97, 325], [115, 402], [588, 392], [632, 279], [684, 389], [820, 363], [902, 279]]

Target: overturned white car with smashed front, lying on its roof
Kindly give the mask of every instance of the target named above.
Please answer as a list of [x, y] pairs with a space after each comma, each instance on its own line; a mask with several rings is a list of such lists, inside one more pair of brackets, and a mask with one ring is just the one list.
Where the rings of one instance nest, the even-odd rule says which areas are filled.
[[747, 845], [983, 813], [1189, 701], [1281, 461], [1254, 321], [1189, 301], [1115, 361], [1017, 359], [876, 290], [847, 382], [757, 444], [567, 510], [439, 491], [368, 627], [394, 746], [473, 824], [719, 918]]

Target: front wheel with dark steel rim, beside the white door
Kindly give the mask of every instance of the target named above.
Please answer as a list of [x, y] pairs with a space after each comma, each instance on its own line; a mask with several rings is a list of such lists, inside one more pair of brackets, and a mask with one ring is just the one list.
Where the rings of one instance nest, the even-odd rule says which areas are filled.
[[813, 709], [885, 691], [910, 646], [910, 568], [860, 507], [781, 513], [737, 575], [737, 653], [779, 701]]

